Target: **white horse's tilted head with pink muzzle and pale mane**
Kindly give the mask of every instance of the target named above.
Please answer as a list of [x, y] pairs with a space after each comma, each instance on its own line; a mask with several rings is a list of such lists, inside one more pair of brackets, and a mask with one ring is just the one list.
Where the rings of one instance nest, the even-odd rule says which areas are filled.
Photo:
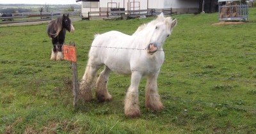
[[[172, 33], [173, 27], [177, 25], [177, 19], [172, 20], [171, 17], [164, 17], [163, 13], [157, 16], [156, 20], [152, 20], [148, 24], [138, 27], [134, 34], [143, 34], [143, 38], [147, 40], [146, 47], [149, 54], [154, 54], [157, 50], [161, 50], [164, 41]], [[136, 35], [139, 36], [139, 35]]]

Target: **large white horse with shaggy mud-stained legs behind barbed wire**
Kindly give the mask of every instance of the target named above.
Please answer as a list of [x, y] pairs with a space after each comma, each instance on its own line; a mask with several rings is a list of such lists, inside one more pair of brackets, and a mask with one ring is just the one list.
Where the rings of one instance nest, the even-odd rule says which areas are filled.
[[164, 41], [176, 24], [176, 19], [164, 17], [161, 13], [156, 20], [138, 27], [131, 36], [118, 31], [95, 35], [80, 83], [83, 100], [92, 100], [93, 79], [97, 70], [105, 65], [96, 84], [96, 96], [99, 101], [112, 100], [107, 84], [109, 73], [115, 71], [131, 75], [131, 85], [124, 101], [124, 112], [127, 117], [140, 116], [138, 87], [143, 76], [147, 76], [147, 108], [163, 110], [164, 106], [157, 92], [157, 75], [164, 62]]

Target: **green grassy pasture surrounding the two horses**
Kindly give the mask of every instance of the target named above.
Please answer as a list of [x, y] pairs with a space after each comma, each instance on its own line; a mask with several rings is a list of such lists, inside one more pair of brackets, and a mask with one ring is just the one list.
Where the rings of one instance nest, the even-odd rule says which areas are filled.
[[[123, 110], [129, 76], [111, 73], [113, 101], [74, 110], [70, 62], [49, 60], [47, 24], [0, 27], [0, 133], [256, 133], [256, 9], [239, 25], [212, 25], [217, 13], [173, 18], [158, 78], [165, 108], [144, 106], [144, 78], [135, 119]], [[94, 34], [132, 34], [152, 19], [74, 22], [66, 42], [76, 42], [79, 78]]]

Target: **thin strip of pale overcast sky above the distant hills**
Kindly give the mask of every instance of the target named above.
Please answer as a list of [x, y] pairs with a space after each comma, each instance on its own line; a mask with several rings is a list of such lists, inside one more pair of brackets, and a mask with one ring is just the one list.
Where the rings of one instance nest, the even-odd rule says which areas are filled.
[[1, 0], [0, 4], [77, 4], [76, 0]]

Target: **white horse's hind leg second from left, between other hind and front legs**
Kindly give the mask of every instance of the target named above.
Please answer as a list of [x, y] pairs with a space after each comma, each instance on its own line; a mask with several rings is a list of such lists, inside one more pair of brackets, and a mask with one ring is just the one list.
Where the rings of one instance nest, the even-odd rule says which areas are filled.
[[100, 73], [99, 78], [97, 79], [97, 91], [96, 96], [99, 101], [110, 101], [112, 96], [108, 93], [108, 77], [111, 70], [108, 66], [105, 66], [104, 70]]

